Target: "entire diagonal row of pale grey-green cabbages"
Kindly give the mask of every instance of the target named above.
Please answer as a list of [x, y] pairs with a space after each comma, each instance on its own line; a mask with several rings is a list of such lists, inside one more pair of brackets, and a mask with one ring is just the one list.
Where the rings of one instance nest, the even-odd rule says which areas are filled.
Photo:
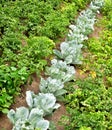
[[54, 50], [55, 59], [46, 68], [47, 79], [41, 78], [40, 93], [26, 92], [28, 108], [19, 107], [8, 112], [8, 118], [13, 123], [12, 130], [51, 130], [50, 122], [44, 117], [60, 107], [56, 103], [67, 91], [64, 84], [74, 79], [75, 68], [71, 64], [81, 64], [82, 42], [94, 30], [96, 13], [103, 5], [103, 0], [92, 1], [87, 10], [80, 13], [75, 25], [70, 25], [69, 34], [60, 45], [60, 50]]

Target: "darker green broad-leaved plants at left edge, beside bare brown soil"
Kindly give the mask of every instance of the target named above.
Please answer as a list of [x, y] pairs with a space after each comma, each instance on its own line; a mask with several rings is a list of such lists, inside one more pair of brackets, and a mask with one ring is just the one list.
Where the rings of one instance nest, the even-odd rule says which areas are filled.
[[7, 65], [0, 66], [0, 111], [8, 111], [13, 103], [13, 96], [19, 94], [20, 86], [25, 84], [28, 76], [25, 67], [17, 69]]

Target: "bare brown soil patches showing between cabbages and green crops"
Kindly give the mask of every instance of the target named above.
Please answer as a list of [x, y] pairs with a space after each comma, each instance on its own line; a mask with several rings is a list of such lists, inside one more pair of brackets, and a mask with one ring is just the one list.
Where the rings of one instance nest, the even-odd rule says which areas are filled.
[[[99, 14], [99, 15], [97, 15], [97, 17], [100, 19], [100, 18], [102, 18], [102, 15]], [[101, 32], [101, 30], [102, 30], [102, 28], [99, 28], [99, 27], [95, 26], [94, 32], [91, 35], [89, 35], [89, 37], [98, 38], [99, 33]], [[25, 45], [25, 44], [26, 43], [23, 42], [23, 45]], [[57, 48], [59, 48], [59, 44], [57, 44]], [[80, 70], [77, 69], [75, 77], [84, 79], [84, 78], [87, 77], [87, 73], [86, 74], [81, 74]], [[27, 104], [26, 104], [26, 101], [25, 101], [25, 97], [26, 97], [25, 92], [27, 90], [34, 91], [34, 93], [39, 92], [40, 78], [37, 77], [36, 74], [33, 74], [32, 78], [33, 78], [33, 82], [32, 82], [31, 85], [27, 84], [26, 86], [22, 87], [21, 94], [18, 97], [16, 97], [15, 103], [11, 106], [12, 109], [16, 109], [16, 108], [21, 107], [21, 106], [26, 106], [27, 107]], [[60, 104], [61, 104], [61, 107], [53, 113], [53, 116], [48, 117], [48, 119], [53, 121], [56, 124], [57, 130], [64, 130], [64, 127], [60, 126], [58, 124], [58, 121], [60, 120], [62, 115], [66, 115], [66, 108], [65, 108], [63, 103], [60, 103]], [[12, 130], [11, 122], [9, 121], [7, 116], [5, 114], [2, 114], [2, 113], [0, 113], [0, 130]]]

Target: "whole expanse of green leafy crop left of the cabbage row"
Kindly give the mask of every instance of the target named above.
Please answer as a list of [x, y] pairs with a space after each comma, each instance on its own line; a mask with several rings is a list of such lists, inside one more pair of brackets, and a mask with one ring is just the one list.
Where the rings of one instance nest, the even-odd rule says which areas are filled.
[[52, 40], [65, 35], [87, 2], [0, 1], [0, 111], [7, 113], [28, 77], [44, 69], [55, 46]]

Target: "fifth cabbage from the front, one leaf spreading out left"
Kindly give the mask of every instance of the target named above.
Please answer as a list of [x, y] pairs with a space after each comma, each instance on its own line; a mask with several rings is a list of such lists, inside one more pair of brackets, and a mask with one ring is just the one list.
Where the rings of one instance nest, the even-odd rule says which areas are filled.
[[60, 51], [54, 50], [58, 58], [66, 61], [67, 64], [82, 64], [82, 44], [75, 44], [75, 41], [63, 42], [60, 45]]

